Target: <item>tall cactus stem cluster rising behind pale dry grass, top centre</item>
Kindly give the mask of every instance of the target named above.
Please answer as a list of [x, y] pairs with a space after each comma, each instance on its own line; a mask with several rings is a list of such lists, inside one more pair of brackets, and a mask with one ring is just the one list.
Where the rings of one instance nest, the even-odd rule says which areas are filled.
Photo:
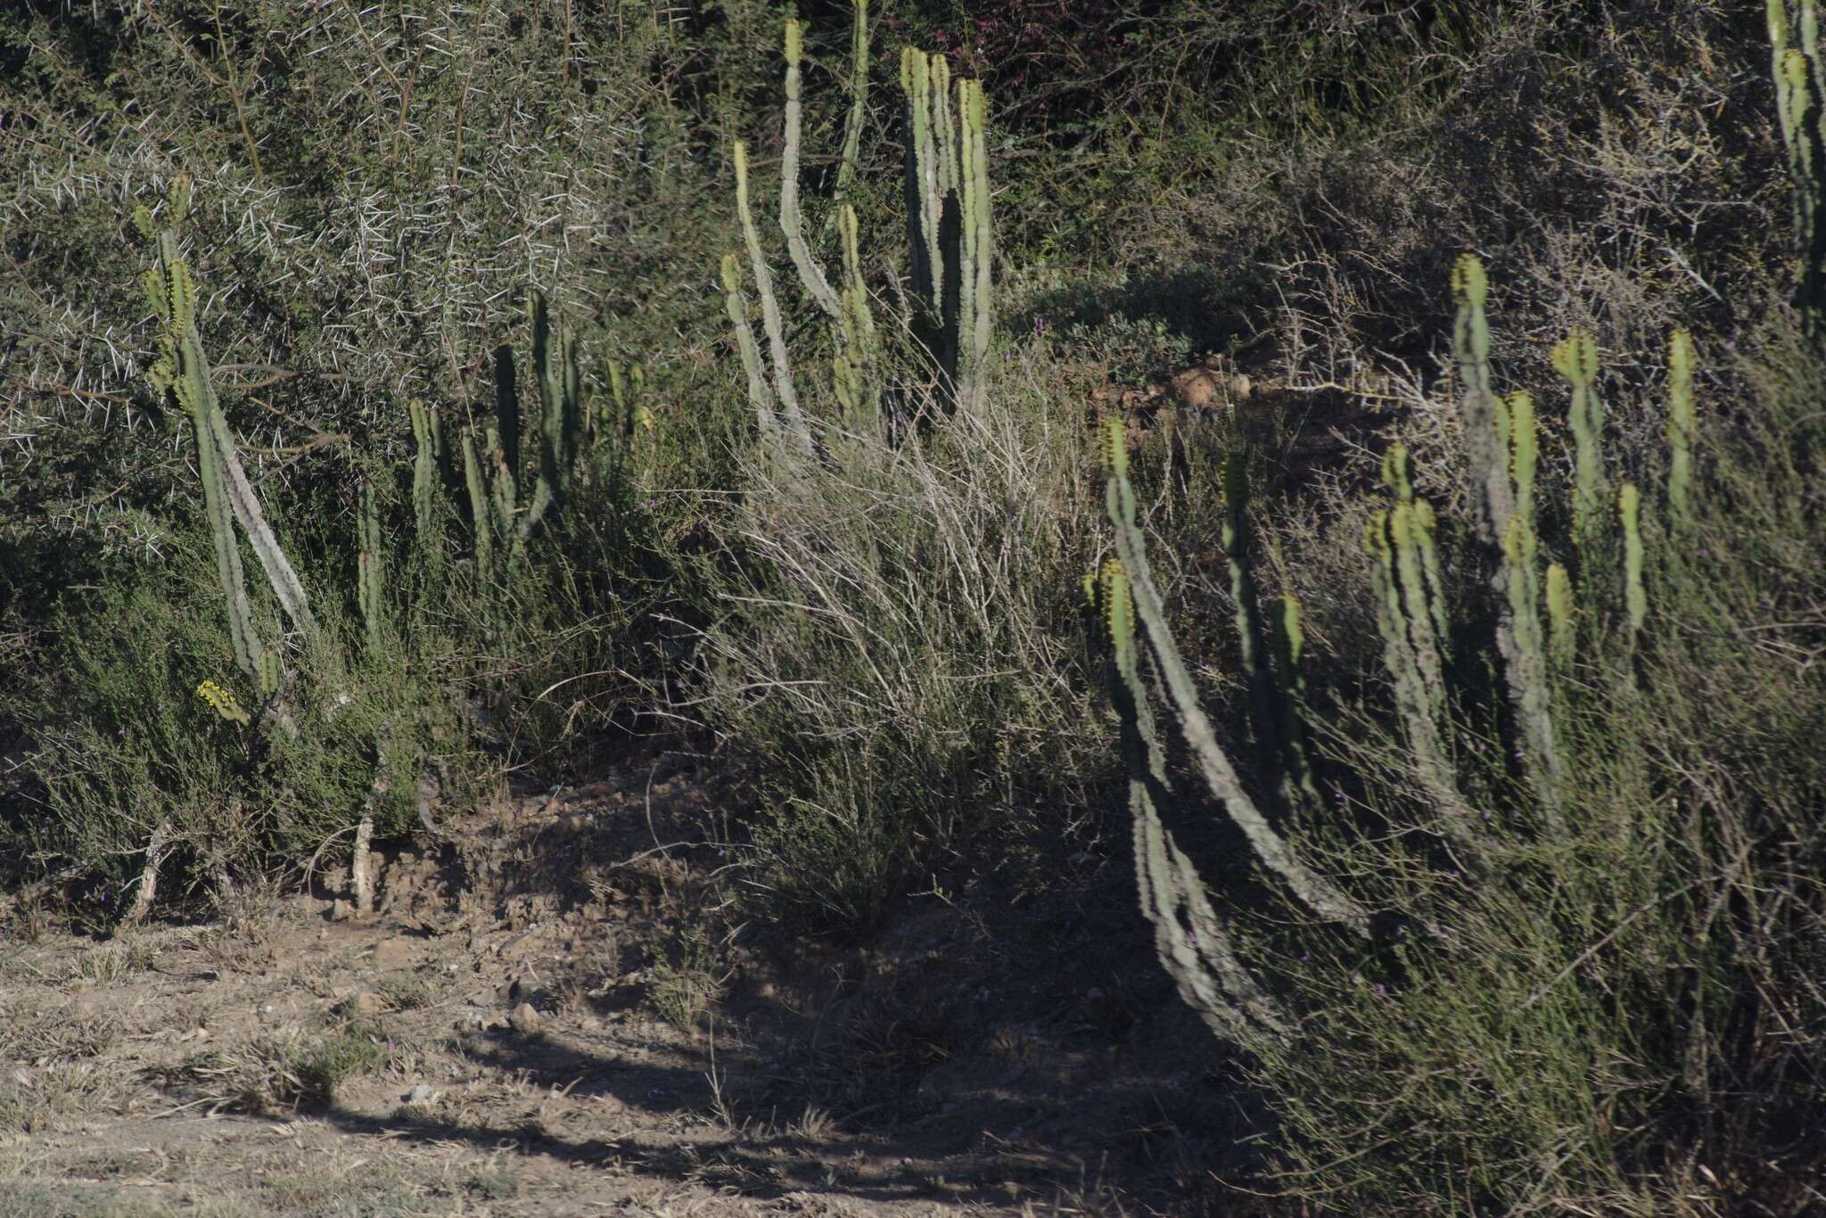
[[[836, 234], [842, 259], [833, 285], [807, 237], [800, 197], [803, 128], [803, 42], [798, 20], [785, 22], [785, 141], [780, 164], [780, 230], [798, 281], [833, 325], [836, 354], [833, 385], [842, 424], [858, 427], [880, 415], [884, 347], [876, 331], [871, 296], [862, 279], [860, 223], [847, 194], [856, 173], [862, 126], [867, 117], [869, 26], [867, 0], [853, 2], [851, 111], [836, 179]], [[995, 323], [990, 263], [986, 106], [977, 80], [957, 80], [942, 57], [908, 49], [902, 57], [906, 95], [906, 192], [913, 265], [915, 316], [908, 329], [939, 367], [944, 393], [964, 411], [979, 413], [984, 402], [984, 371]], [[955, 97], [953, 97], [955, 91]], [[743, 279], [743, 257], [727, 254], [721, 265], [723, 298], [736, 334], [749, 387], [749, 405], [763, 440], [789, 453], [818, 451], [813, 424], [800, 405], [785, 320], [772, 270], [754, 219], [749, 179], [749, 148], [734, 146], [736, 214], [741, 225], [749, 276], [760, 298], [761, 338], [754, 332]]]

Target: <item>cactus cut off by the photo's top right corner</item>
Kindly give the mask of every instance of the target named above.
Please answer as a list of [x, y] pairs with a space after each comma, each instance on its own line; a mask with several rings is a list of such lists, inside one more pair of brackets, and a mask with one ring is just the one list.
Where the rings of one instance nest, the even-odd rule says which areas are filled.
[[1775, 77], [1775, 113], [1788, 150], [1788, 173], [1795, 183], [1795, 248], [1800, 283], [1795, 305], [1813, 338], [1826, 334], [1826, 144], [1822, 144], [1822, 71], [1815, 0], [1800, 0], [1793, 29], [1800, 46], [1789, 46], [1788, 0], [1768, 0], [1769, 69]]

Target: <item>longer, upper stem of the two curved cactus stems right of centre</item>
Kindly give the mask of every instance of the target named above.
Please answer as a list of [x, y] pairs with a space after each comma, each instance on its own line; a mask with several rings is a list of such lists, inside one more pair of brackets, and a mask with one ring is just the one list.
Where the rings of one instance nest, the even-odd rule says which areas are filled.
[[1172, 639], [1165, 606], [1154, 586], [1154, 573], [1147, 561], [1147, 542], [1141, 535], [1141, 524], [1136, 519], [1134, 486], [1128, 482], [1128, 449], [1121, 420], [1110, 420], [1105, 455], [1110, 475], [1105, 488], [1105, 506], [1116, 531], [1116, 553], [1128, 579], [1136, 615], [1147, 630], [1156, 668], [1178, 712], [1180, 732], [1185, 736], [1185, 743], [1198, 761], [1205, 787], [1212, 798], [1223, 803], [1231, 820], [1247, 838], [1254, 856], [1278, 875], [1309, 909], [1368, 937], [1370, 913], [1331, 884], [1331, 880], [1311, 871], [1295, 856], [1286, 838], [1269, 825], [1254, 800], [1244, 791], [1234, 767], [1218, 747], [1216, 730], [1198, 701], [1198, 690]]

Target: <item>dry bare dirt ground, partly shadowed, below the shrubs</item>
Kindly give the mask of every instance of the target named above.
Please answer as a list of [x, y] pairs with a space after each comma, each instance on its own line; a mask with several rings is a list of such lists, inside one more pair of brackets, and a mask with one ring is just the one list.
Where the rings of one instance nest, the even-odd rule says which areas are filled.
[[1119, 849], [792, 942], [734, 920], [730, 798], [659, 747], [502, 794], [369, 919], [338, 875], [106, 940], [16, 904], [0, 1218], [1242, 1213]]

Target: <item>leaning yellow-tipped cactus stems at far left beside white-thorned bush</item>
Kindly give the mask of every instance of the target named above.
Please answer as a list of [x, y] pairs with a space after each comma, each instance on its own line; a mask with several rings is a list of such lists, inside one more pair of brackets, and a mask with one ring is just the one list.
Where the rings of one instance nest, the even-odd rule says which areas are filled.
[[152, 365], [152, 383], [170, 394], [190, 415], [197, 440], [197, 471], [203, 477], [203, 511], [215, 548], [215, 573], [221, 581], [234, 639], [236, 665], [265, 690], [276, 687], [272, 674], [278, 656], [268, 652], [254, 621], [247, 579], [241, 570], [241, 544], [236, 524], [247, 535], [279, 608], [296, 628], [316, 623], [298, 572], [267, 524], [254, 486], [241, 469], [234, 431], [223, 415], [210, 363], [197, 332], [197, 285], [177, 248], [177, 237], [190, 212], [190, 183], [179, 175], [170, 192], [166, 225], [157, 226], [146, 208], [135, 208], [133, 223], [153, 245], [157, 265], [146, 270], [146, 301], [161, 321], [159, 358]]

